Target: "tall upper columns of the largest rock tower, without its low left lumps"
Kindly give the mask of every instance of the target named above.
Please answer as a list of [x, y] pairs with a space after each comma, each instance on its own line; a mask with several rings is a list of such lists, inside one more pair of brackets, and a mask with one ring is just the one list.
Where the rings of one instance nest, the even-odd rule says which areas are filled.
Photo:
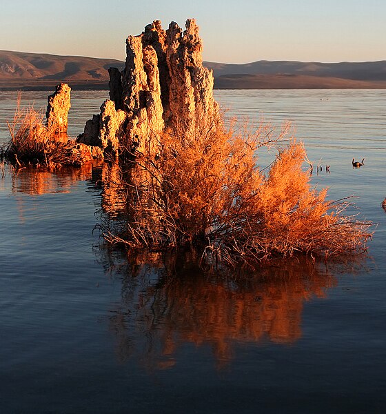
[[138, 124], [148, 124], [152, 131], [181, 128], [181, 123], [191, 128], [218, 110], [202, 49], [194, 19], [186, 21], [184, 32], [175, 22], [163, 30], [156, 20], [139, 36], [128, 37], [123, 103]]

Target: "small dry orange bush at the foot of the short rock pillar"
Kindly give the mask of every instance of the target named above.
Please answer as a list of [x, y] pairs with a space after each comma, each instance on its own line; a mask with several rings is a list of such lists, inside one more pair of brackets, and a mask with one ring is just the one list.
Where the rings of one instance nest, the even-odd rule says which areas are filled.
[[[91, 158], [90, 148], [59, 137], [43, 125], [43, 117], [34, 108], [20, 108], [20, 97], [12, 123], [8, 123], [10, 141], [3, 156], [17, 167], [81, 165]], [[61, 138], [64, 141], [59, 140]]]

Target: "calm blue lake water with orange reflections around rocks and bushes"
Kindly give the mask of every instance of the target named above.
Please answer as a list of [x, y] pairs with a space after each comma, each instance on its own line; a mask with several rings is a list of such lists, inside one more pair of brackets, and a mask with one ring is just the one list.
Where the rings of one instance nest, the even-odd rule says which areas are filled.
[[[352, 211], [378, 224], [369, 257], [277, 264], [248, 279], [204, 275], [189, 257], [129, 264], [93, 233], [103, 166], [5, 167], [0, 413], [386, 412], [386, 90], [215, 96], [228, 117], [292, 122], [312, 182], [330, 199], [356, 196]], [[46, 97], [24, 92], [23, 104]], [[72, 93], [70, 135], [107, 97]], [[0, 143], [15, 104], [0, 92]]]

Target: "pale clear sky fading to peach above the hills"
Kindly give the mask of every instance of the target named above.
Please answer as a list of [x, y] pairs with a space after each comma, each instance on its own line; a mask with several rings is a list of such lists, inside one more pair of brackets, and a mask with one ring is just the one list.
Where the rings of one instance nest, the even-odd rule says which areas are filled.
[[0, 0], [0, 50], [124, 60], [154, 19], [194, 18], [203, 59], [386, 59], [386, 0]]

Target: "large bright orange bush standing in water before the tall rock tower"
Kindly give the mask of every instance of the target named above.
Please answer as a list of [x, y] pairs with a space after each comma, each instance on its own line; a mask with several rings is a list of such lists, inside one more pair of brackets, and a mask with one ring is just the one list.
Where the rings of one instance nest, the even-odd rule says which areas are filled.
[[264, 175], [256, 152], [278, 139], [272, 131], [261, 126], [251, 135], [219, 124], [179, 128], [160, 138], [155, 157], [137, 155], [126, 179], [128, 215], [119, 233], [104, 229], [108, 242], [150, 249], [192, 244], [232, 264], [363, 250], [368, 224], [344, 217], [342, 204], [311, 187], [302, 144], [281, 148]]

